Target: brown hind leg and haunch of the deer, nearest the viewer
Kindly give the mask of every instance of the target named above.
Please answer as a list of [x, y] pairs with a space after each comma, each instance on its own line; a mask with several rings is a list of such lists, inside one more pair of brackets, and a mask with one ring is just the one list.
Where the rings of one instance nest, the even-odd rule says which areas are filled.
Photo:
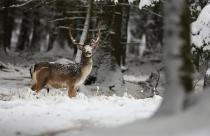
[[49, 69], [47, 67], [40, 69], [36, 75], [36, 83], [32, 86], [31, 89], [38, 93], [46, 85], [48, 77]]

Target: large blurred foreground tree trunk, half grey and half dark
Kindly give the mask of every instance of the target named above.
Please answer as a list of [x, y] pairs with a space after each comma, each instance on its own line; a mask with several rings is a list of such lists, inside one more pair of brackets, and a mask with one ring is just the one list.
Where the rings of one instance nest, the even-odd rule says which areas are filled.
[[[165, 3], [166, 92], [155, 116], [172, 115], [183, 109], [186, 92], [192, 90], [190, 61], [190, 23], [187, 0]], [[184, 81], [188, 80], [188, 81]]]

